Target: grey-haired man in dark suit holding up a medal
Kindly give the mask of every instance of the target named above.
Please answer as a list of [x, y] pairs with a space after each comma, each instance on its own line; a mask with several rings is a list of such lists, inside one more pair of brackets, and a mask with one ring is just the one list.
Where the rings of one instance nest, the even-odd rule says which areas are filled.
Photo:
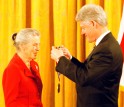
[[107, 29], [106, 14], [102, 7], [88, 4], [79, 10], [76, 21], [80, 22], [81, 34], [96, 47], [84, 62], [71, 56], [65, 47], [52, 47], [56, 71], [76, 83], [77, 107], [118, 107], [123, 57]]

